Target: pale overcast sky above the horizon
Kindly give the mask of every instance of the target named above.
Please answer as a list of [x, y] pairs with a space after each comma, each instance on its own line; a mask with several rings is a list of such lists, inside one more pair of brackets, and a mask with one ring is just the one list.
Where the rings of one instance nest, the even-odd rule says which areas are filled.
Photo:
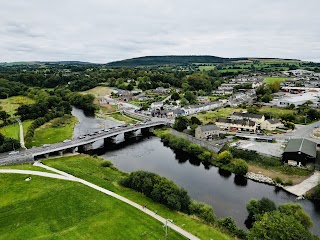
[[141, 56], [320, 62], [320, 0], [0, 0], [0, 62]]

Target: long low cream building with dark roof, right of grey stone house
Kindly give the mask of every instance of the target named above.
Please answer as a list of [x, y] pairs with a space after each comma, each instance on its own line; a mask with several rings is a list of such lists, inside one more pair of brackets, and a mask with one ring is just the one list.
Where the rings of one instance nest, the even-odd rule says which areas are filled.
[[257, 123], [251, 120], [233, 120], [219, 118], [215, 124], [226, 131], [248, 131], [255, 132], [257, 130]]

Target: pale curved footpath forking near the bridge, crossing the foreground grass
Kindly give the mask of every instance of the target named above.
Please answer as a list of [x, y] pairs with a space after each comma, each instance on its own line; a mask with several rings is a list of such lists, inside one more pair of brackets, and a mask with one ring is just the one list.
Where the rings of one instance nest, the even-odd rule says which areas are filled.
[[30, 175], [37, 175], [37, 176], [43, 176], [43, 177], [50, 177], [50, 178], [57, 178], [57, 179], [62, 179], [62, 180], [69, 180], [69, 181], [75, 181], [75, 182], [79, 182], [79, 183], [82, 183], [88, 187], [91, 187], [95, 190], [98, 190], [104, 194], [107, 194], [109, 196], [112, 196], [122, 202], [125, 202], [137, 209], [139, 209], [140, 211], [143, 211], [145, 212], [146, 214], [148, 214], [149, 216], [157, 219], [158, 221], [162, 222], [163, 224], [167, 224], [168, 227], [170, 227], [171, 229], [173, 229], [174, 231], [180, 233], [181, 235], [185, 236], [187, 239], [192, 239], [192, 240], [200, 240], [199, 238], [197, 238], [196, 236], [192, 235], [191, 233], [183, 230], [182, 228], [178, 227], [177, 225], [171, 223], [170, 221], [167, 221], [167, 219], [155, 214], [154, 212], [150, 211], [149, 209], [146, 209], [146, 208], [142, 208], [141, 205], [125, 198], [125, 197], [122, 197], [120, 196], [119, 194], [116, 194], [114, 192], [111, 192], [105, 188], [102, 188], [102, 187], [99, 187], [93, 183], [90, 183], [86, 180], [83, 180], [81, 178], [77, 178], [71, 174], [68, 174], [66, 172], [63, 172], [63, 171], [60, 171], [60, 170], [57, 170], [55, 168], [52, 168], [52, 167], [49, 167], [49, 166], [46, 166], [42, 163], [38, 163], [38, 162], [35, 162], [34, 163], [35, 166], [39, 166], [39, 167], [42, 167], [42, 168], [45, 168], [47, 170], [50, 170], [52, 172], [55, 172], [55, 173], [47, 173], [47, 172], [41, 172], [41, 171], [31, 171], [31, 170], [18, 170], [18, 169], [0, 169], [0, 173], [18, 173], [18, 174], [30, 174]]

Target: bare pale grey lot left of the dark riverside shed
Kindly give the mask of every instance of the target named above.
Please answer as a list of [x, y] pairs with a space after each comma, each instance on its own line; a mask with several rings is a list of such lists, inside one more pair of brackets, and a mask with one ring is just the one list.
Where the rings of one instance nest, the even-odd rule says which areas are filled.
[[253, 150], [258, 153], [281, 157], [285, 148], [284, 143], [267, 143], [267, 142], [254, 142], [247, 140], [240, 140], [234, 144], [234, 147], [240, 149]]

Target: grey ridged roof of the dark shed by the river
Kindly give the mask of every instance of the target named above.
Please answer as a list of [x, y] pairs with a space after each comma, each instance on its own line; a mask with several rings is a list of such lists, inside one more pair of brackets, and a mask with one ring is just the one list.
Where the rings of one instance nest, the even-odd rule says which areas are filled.
[[316, 158], [317, 144], [305, 138], [290, 139], [284, 152], [302, 152]]

